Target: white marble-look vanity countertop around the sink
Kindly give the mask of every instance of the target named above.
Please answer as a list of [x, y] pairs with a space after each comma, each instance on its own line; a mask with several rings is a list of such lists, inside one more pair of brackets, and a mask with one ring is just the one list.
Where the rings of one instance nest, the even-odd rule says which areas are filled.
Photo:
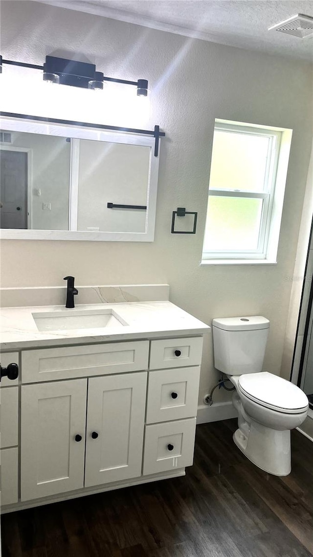
[[[112, 309], [127, 325], [96, 329], [38, 331], [32, 313]], [[207, 333], [208, 325], [169, 301], [120, 302], [117, 304], [77, 304], [64, 306], [2, 307], [0, 309], [1, 350], [123, 341], [162, 336]]]

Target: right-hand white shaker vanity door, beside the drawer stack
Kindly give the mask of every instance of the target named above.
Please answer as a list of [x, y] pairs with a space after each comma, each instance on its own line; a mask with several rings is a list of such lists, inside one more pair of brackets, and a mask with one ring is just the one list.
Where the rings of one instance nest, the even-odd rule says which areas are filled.
[[147, 373], [89, 379], [85, 487], [141, 475]]

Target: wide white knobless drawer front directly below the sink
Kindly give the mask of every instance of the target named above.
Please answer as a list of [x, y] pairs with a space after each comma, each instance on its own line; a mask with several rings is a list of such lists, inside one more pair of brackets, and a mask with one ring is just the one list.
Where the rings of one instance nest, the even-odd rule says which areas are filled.
[[23, 351], [22, 383], [145, 370], [148, 354], [148, 340]]

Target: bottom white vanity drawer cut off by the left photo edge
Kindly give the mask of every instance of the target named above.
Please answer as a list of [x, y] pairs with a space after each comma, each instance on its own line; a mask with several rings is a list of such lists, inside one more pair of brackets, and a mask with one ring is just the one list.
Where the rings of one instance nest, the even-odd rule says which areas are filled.
[[18, 501], [18, 449], [0, 451], [1, 505], [11, 505]]

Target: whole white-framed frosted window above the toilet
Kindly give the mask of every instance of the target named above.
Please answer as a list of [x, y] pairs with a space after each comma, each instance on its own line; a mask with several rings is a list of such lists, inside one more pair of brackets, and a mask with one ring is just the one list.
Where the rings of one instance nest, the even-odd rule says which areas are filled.
[[290, 143], [291, 130], [216, 121], [203, 264], [276, 262]]

